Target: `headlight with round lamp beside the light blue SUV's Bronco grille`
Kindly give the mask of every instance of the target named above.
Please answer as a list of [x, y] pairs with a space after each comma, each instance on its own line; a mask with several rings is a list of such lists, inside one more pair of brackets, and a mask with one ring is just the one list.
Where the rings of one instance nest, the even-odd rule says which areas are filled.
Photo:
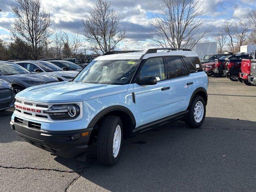
[[79, 116], [80, 108], [76, 104], [53, 105], [44, 111], [52, 120], [72, 120]]

